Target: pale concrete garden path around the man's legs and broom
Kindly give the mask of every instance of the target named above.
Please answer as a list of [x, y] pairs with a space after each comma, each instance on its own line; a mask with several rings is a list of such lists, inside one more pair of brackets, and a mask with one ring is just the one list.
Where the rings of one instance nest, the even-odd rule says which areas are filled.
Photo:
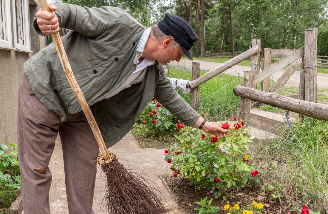
[[[169, 172], [171, 175], [170, 164], [164, 160], [164, 149], [140, 149], [136, 140], [131, 133], [128, 133], [123, 139], [116, 143], [110, 150], [116, 154], [119, 162], [126, 165], [133, 172], [141, 174], [148, 180], [149, 184], [159, 190], [166, 202], [174, 207], [174, 211], [170, 214], [185, 214], [179, 210], [179, 207], [174, 203], [174, 199], [163, 185], [158, 177]], [[52, 184], [50, 188], [50, 209], [53, 214], [68, 214], [68, 206], [66, 199], [64, 163], [60, 139], [56, 140], [56, 146], [53, 151], [49, 167], [52, 172]], [[98, 168], [96, 177], [93, 211], [95, 214], [106, 213], [103, 209], [103, 197], [105, 195], [105, 176]], [[24, 213], [24, 211], [23, 211]]]

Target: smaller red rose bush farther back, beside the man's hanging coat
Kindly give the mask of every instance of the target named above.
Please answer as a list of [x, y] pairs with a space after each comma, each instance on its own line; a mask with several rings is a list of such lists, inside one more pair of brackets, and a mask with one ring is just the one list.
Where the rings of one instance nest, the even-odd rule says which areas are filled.
[[[158, 106], [159, 105], [159, 106]], [[144, 124], [145, 123], [145, 124]], [[136, 121], [136, 125], [144, 127], [147, 137], [161, 138], [172, 136], [177, 132], [178, 119], [174, 117], [157, 100], [148, 103], [146, 109]]]

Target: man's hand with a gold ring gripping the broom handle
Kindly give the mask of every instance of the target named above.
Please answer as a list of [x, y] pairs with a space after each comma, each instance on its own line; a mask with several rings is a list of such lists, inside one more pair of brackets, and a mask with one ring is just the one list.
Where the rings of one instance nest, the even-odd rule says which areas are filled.
[[59, 32], [59, 22], [58, 18], [55, 16], [53, 11], [56, 10], [54, 4], [49, 4], [49, 9], [51, 12], [42, 11], [41, 9], [35, 14], [36, 23], [38, 24], [41, 32], [45, 35], [53, 34]]

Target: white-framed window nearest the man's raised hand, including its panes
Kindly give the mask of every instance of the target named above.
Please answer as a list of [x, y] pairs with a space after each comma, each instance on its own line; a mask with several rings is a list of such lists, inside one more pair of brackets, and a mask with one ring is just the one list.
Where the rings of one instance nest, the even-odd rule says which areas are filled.
[[28, 1], [13, 1], [13, 13], [15, 48], [31, 52]]

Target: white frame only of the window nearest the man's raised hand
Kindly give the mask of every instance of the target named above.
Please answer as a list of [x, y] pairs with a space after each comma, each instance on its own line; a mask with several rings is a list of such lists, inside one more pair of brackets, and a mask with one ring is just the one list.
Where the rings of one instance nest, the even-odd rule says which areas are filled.
[[24, 45], [17, 43], [17, 23], [16, 23], [16, 0], [12, 0], [12, 13], [13, 13], [13, 26], [14, 26], [14, 44], [16, 51], [21, 52], [31, 52], [31, 42], [30, 42], [30, 24], [29, 24], [29, 1], [28, 0], [21, 0], [22, 1], [22, 24], [23, 24], [23, 38], [24, 38]]

